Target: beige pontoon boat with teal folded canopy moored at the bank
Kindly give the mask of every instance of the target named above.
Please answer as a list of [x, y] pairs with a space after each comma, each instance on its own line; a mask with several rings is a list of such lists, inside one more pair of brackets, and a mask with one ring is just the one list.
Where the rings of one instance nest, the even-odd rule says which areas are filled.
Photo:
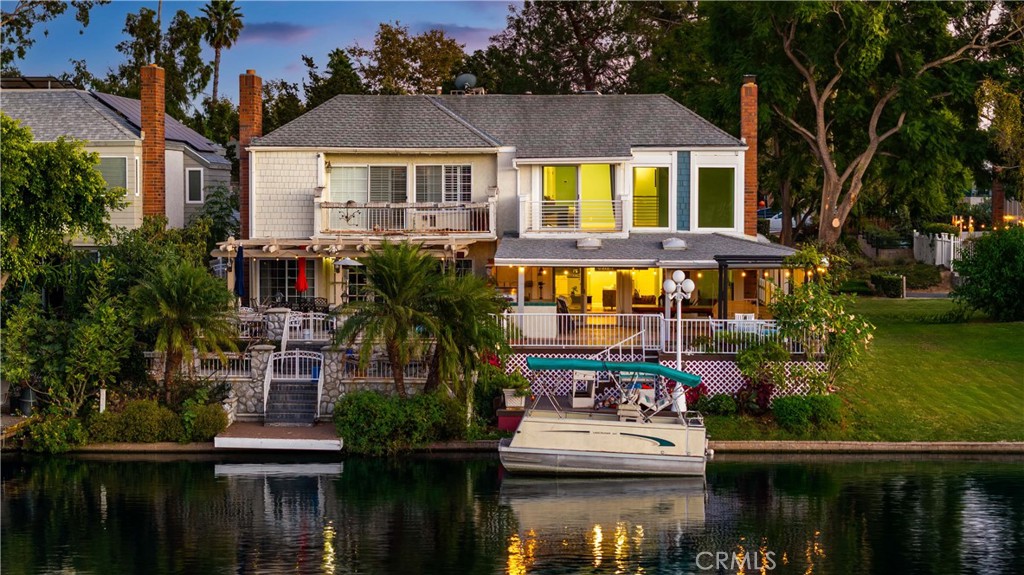
[[[529, 357], [530, 370], [571, 373], [571, 397], [551, 386], [526, 408], [511, 438], [501, 440], [511, 473], [556, 475], [702, 476], [708, 458], [703, 417], [687, 410], [684, 390], [700, 378], [646, 362]], [[596, 377], [594, 377], [596, 375]], [[597, 381], [609, 397], [595, 394]], [[577, 383], [587, 391], [578, 401]], [[671, 389], [670, 389], [671, 388]], [[588, 399], [590, 399], [588, 405]]]

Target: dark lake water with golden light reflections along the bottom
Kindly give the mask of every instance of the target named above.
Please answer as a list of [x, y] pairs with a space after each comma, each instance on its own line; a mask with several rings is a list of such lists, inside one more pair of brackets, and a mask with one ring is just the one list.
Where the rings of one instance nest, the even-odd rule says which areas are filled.
[[1015, 458], [720, 456], [707, 480], [496, 457], [5, 455], [0, 572], [1024, 572]]

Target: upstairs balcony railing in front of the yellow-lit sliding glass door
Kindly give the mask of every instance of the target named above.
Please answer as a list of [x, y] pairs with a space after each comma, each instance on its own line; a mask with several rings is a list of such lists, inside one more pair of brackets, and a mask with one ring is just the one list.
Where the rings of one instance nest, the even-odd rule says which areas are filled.
[[622, 200], [521, 200], [527, 232], [614, 232], [623, 230]]

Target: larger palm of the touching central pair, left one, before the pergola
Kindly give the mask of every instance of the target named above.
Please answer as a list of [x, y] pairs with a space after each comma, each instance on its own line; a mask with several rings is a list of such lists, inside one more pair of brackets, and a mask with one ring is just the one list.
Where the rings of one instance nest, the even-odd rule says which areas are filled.
[[366, 366], [373, 349], [383, 347], [391, 364], [395, 391], [407, 397], [406, 366], [419, 355], [436, 330], [428, 296], [436, 289], [437, 262], [418, 245], [384, 241], [364, 260], [367, 300], [345, 306], [344, 323], [335, 342], [351, 346], [359, 337], [359, 363]]

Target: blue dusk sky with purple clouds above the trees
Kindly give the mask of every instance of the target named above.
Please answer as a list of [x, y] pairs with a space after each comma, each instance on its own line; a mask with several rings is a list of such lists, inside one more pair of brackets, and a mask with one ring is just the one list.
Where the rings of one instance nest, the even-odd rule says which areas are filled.
[[[4, 8], [12, 3], [3, 0]], [[140, 7], [157, 9], [158, 2], [118, 1], [98, 6], [90, 13], [84, 30], [72, 10], [33, 30], [36, 44], [26, 57], [15, 61], [25, 76], [60, 76], [72, 72], [70, 59], [84, 58], [89, 72], [105, 76], [108, 69], [124, 60], [117, 44], [124, 39], [125, 14]], [[166, 30], [178, 10], [198, 15], [205, 2], [165, 1], [163, 23]], [[323, 70], [327, 54], [335, 48], [354, 43], [373, 45], [374, 34], [382, 21], [398, 20], [418, 34], [440, 28], [460, 43], [467, 53], [483, 48], [487, 39], [505, 29], [509, 2], [467, 0], [461, 2], [281, 2], [238, 0], [245, 28], [239, 41], [221, 52], [220, 91], [238, 101], [238, 77], [255, 70], [264, 80], [284, 79], [299, 84], [305, 77], [303, 54], [313, 56]], [[44, 36], [44, 31], [47, 32]], [[80, 34], [81, 32], [81, 34]], [[213, 61], [213, 50], [205, 47], [205, 56]], [[212, 89], [212, 81], [207, 90]]]

